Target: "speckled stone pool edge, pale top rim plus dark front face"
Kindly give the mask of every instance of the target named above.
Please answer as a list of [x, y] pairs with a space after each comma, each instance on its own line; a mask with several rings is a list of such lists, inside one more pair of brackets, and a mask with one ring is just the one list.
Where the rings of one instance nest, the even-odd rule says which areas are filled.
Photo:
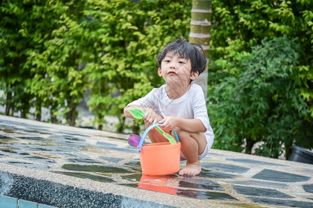
[[[0, 177], [6, 177], [0, 193], [55, 207], [228, 207], [228, 201], [197, 200], [170, 194], [96, 182], [30, 168], [1, 164]], [[4, 179], [4, 178], [2, 178]], [[29, 190], [29, 191], [27, 191]], [[76, 195], [76, 196], [75, 196]], [[75, 201], [78, 199], [79, 201]], [[66, 203], [64, 206], [64, 203]], [[225, 205], [223, 205], [225, 203]], [[239, 203], [240, 204], [240, 203]]]

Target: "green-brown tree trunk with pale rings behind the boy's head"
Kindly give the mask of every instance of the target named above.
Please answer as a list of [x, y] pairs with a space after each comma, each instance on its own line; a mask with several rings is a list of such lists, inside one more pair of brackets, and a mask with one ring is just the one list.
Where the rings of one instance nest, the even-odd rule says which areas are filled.
[[[200, 44], [202, 46], [204, 54], [207, 57], [207, 64], [209, 64], [209, 43], [211, 39], [211, 5], [211, 0], [193, 0], [193, 7], [191, 9], [191, 28], [189, 33], [189, 42]], [[206, 99], [207, 77], [208, 69], [206, 68], [195, 80], [195, 83], [202, 87]]]

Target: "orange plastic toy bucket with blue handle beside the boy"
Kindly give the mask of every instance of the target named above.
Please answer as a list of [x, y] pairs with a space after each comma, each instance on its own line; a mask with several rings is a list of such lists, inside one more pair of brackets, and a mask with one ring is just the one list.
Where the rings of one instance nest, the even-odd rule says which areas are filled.
[[180, 166], [180, 142], [176, 144], [159, 142], [142, 146], [143, 139], [145, 139], [147, 132], [157, 125], [161, 124], [156, 123], [150, 125], [143, 133], [141, 141], [138, 144], [141, 170], [145, 175], [168, 175], [177, 173]]

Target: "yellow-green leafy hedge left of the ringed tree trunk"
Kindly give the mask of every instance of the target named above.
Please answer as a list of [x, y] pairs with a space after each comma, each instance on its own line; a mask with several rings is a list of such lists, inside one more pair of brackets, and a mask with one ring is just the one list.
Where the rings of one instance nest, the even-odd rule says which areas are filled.
[[0, 86], [6, 114], [41, 107], [75, 124], [84, 92], [95, 123], [161, 83], [156, 55], [188, 37], [189, 1], [1, 1]]

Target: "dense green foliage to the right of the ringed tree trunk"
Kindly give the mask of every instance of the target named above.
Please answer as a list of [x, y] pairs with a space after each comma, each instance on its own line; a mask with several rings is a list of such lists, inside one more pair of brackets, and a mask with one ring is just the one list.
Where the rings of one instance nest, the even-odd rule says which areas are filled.
[[250, 153], [262, 141], [258, 155], [278, 157], [284, 150], [288, 157], [294, 143], [313, 147], [312, 6], [213, 1], [208, 109], [215, 148]]

